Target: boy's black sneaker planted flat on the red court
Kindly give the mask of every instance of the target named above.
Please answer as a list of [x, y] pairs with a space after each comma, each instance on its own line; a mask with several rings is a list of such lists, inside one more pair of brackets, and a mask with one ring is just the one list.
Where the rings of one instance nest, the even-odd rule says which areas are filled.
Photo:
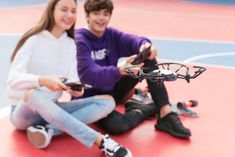
[[170, 112], [166, 116], [159, 118], [157, 124], [155, 124], [155, 129], [165, 131], [179, 138], [189, 138], [191, 136], [190, 130], [183, 126], [175, 112]]

